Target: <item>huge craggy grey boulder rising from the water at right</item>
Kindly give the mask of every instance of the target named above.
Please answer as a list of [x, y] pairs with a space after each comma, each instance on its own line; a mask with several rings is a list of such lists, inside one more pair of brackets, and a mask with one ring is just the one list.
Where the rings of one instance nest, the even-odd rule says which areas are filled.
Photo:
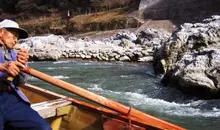
[[162, 82], [201, 98], [220, 98], [220, 16], [185, 23], [154, 53]]

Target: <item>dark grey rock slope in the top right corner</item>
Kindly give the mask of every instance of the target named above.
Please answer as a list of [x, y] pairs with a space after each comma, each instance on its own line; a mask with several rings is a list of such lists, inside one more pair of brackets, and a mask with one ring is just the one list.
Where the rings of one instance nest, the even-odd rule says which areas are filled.
[[144, 19], [169, 19], [175, 25], [195, 23], [220, 13], [219, 0], [141, 0]]

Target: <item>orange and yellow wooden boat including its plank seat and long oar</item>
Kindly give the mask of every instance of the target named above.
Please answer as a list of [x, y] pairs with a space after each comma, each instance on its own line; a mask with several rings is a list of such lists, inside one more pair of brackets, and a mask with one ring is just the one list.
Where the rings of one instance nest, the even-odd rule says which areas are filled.
[[80, 92], [83, 92], [82, 97], [89, 99], [92, 96], [92, 101], [101, 104], [86, 103], [30, 84], [21, 87], [30, 100], [31, 107], [50, 122], [53, 130], [184, 130], [34, 69], [26, 68], [23, 71], [75, 94], [81, 95]]

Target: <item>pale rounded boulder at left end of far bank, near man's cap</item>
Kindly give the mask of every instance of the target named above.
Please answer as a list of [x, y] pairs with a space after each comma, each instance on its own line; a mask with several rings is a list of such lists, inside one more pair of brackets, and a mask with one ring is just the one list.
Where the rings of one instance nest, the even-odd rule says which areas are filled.
[[62, 36], [56, 35], [30, 37], [20, 41], [21, 46], [29, 50], [33, 60], [60, 59], [62, 50], [66, 48], [65, 42]]

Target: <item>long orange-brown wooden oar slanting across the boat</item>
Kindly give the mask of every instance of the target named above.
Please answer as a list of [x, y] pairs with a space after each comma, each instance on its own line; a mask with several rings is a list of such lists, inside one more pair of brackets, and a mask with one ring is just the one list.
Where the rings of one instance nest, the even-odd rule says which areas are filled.
[[145, 122], [145, 124], [149, 126], [153, 126], [159, 129], [167, 129], [167, 130], [185, 130], [184, 128], [181, 128], [177, 125], [171, 124], [169, 122], [163, 121], [161, 119], [155, 118], [153, 116], [150, 116], [148, 114], [145, 114], [141, 111], [138, 111], [134, 108], [127, 107], [125, 105], [122, 105], [116, 101], [107, 99], [105, 97], [102, 97], [98, 94], [92, 93], [90, 91], [87, 91], [85, 89], [82, 89], [80, 87], [77, 87], [75, 85], [72, 85], [70, 83], [64, 82], [59, 79], [55, 79], [45, 73], [42, 73], [40, 71], [37, 71], [35, 69], [25, 67], [22, 69], [23, 72], [32, 75], [36, 78], [39, 78], [43, 81], [46, 81], [48, 83], [51, 83], [55, 86], [58, 86], [62, 89], [65, 89], [71, 93], [77, 94], [81, 97], [84, 97], [90, 101], [96, 102], [98, 104], [101, 104], [105, 107], [108, 107], [114, 111], [117, 111], [123, 115], [128, 115], [131, 117], [135, 117], [139, 119], [141, 122]]

